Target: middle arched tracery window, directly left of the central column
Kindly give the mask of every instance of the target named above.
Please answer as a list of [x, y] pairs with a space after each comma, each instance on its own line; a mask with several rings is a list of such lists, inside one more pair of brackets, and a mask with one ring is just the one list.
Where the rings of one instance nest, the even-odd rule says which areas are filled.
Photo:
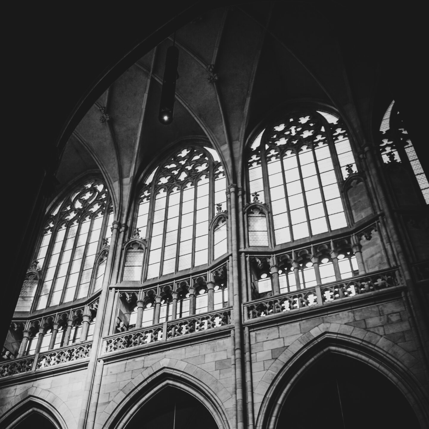
[[[148, 242], [146, 278], [210, 263], [210, 222], [225, 209], [226, 178], [214, 149], [187, 146], [158, 166], [139, 194], [137, 212], [136, 227]], [[227, 251], [224, 232], [223, 224], [215, 228], [215, 257]]]

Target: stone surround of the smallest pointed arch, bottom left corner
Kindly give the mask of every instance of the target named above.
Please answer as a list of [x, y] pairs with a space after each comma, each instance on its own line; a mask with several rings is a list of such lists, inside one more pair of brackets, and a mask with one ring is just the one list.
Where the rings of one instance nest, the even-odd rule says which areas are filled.
[[42, 414], [56, 429], [77, 427], [76, 420], [67, 405], [54, 393], [39, 387], [30, 387], [25, 390], [6, 407], [8, 411], [0, 417], [0, 427], [5, 429], [14, 428], [33, 413]]

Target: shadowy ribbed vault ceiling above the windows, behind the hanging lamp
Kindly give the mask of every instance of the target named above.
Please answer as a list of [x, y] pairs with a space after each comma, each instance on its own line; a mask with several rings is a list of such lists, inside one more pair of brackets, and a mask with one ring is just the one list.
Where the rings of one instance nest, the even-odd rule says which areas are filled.
[[[167, 38], [123, 73], [80, 121], [62, 154], [60, 185], [98, 166], [116, 202], [124, 202], [130, 181], [172, 142], [191, 136], [208, 139], [230, 180], [240, 184], [232, 158], [239, 165], [246, 139], [267, 112], [298, 101], [335, 106], [355, 136], [363, 139], [363, 129], [368, 138], [376, 65], [359, 58], [345, 64], [344, 32], [346, 21], [317, 3], [257, 2], [205, 12], [176, 32], [180, 77], [173, 123], [157, 119], [166, 49], [172, 45]], [[208, 79], [210, 64], [215, 83]]]

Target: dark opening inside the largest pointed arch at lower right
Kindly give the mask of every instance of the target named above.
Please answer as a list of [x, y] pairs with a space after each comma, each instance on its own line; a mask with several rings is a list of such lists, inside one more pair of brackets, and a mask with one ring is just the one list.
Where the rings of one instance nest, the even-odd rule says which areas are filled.
[[420, 428], [399, 389], [369, 365], [328, 352], [292, 387], [276, 429]]

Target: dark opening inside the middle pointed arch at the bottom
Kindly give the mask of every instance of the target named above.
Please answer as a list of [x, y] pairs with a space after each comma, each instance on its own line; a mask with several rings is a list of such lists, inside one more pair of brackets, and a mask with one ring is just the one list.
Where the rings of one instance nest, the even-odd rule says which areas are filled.
[[194, 396], [167, 386], [146, 402], [125, 429], [218, 429], [207, 408]]

